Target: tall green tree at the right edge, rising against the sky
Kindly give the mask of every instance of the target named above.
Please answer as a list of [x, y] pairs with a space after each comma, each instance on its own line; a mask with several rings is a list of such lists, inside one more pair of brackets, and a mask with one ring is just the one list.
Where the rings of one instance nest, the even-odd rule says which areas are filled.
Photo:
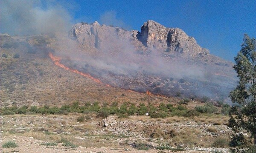
[[230, 92], [231, 101], [239, 106], [230, 110], [229, 127], [236, 133], [250, 133], [256, 146], [256, 40], [245, 34], [243, 41], [233, 66], [239, 84]]

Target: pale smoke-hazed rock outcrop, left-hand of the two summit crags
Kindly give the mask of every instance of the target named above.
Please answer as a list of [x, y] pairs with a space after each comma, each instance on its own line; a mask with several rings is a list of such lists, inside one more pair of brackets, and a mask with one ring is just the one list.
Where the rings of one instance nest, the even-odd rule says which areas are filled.
[[82, 46], [96, 49], [116, 48], [122, 41], [131, 39], [132, 32], [119, 27], [99, 25], [97, 21], [92, 24], [78, 23], [69, 32], [70, 38], [77, 40]]

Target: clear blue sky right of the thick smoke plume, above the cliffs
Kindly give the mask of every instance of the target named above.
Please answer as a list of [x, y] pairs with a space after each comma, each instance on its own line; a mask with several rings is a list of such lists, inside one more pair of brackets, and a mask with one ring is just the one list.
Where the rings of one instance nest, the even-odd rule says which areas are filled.
[[[244, 33], [256, 38], [256, 0], [77, 0], [69, 7], [75, 22], [136, 29], [147, 20], [180, 28], [210, 53], [229, 61]], [[70, 10], [71, 10], [70, 9]]]

